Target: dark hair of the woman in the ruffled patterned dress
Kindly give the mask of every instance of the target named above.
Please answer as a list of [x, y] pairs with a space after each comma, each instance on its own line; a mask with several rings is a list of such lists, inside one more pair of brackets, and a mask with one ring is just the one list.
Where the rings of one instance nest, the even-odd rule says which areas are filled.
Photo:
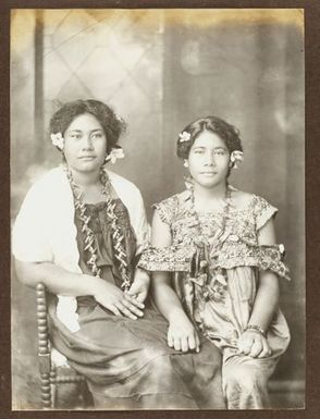
[[218, 116], [206, 116], [192, 122], [182, 131], [190, 134], [190, 138], [187, 141], [181, 141], [180, 138], [177, 139], [176, 156], [181, 159], [187, 159], [193, 144], [204, 131], [210, 131], [219, 135], [225, 143], [230, 153], [234, 150], [243, 151], [239, 132], [236, 127]]

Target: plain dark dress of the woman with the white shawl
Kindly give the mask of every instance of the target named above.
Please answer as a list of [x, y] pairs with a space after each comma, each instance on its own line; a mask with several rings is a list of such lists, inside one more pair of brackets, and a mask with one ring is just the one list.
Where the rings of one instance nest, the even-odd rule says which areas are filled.
[[[120, 199], [113, 202], [128, 262], [134, 267], [136, 238], [128, 212]], [[106, 205], [87, 205], [87, 211], [100, 276], [120, 287], [122, 279], [114, 263], [111, 219]], [[75, 224], [79, 266], [90, 275], [78, 211]], [[57, 318], [56, 306], [50, 307], [52, 341], [69, 363], [87, 378], [96, 408], [224, 408], [221, 355], [219, 350], [212, 352], [210, 342], [204, 342], [200, 354], [182, 354], [168, 347], [168, 323], [150, 301], [146, 301], [144, 318], [138, 320], [114, 316], [90, 296], [78, 297], [77, 303], [81, 329], [75, 333]]]

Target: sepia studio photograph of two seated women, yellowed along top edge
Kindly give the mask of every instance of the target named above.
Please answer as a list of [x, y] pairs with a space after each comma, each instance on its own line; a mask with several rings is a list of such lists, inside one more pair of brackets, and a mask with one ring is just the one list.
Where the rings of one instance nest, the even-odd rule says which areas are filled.
[[12, 410], [305, 409], [304, 9], [12, 9], [10, 131]]

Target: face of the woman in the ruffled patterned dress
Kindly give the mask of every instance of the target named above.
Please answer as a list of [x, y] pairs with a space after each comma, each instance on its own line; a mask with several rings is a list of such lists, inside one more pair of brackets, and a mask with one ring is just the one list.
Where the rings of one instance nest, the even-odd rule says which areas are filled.
[[204, 131], [196, 138], [188, 156], [188, 168], [194, 182], [210, 188], [225, 183], [230, 152], [219, 135]]

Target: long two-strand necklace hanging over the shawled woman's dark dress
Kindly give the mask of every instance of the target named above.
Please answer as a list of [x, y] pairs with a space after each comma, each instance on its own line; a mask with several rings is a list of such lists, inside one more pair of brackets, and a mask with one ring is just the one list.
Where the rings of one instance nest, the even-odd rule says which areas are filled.
[[[91, 218], [87, 214], [87, 206], [82, 199], [83, 190], [78, 190], [79, 186], [75, 184], [72, 176], [72, 172], [66, 165], [64, 167], [64, 172], [66, 174], [67, 181], [73, 193], [75, 210], [78, 211], [79, 219], [82, 221], [82, 233], [85, 236], [85, 250], [88, 251], [90, 255], [89, 259], [86, 262], [90, 267], [94, 276], [100, 276], [101, 270], [97, 266], [98, 256], [95, 234], [90, 227]], [[107, 172], [103, 169], [101, 169], [100, 171], [100, 182], [102, 185], [101, 194], [104, 196], [104, 199], [107, 201], [107, 214], [111, 219], [111, 236], [114, 249], [114, 257], [116, 259], [118, 268], [122, 278], [121, 288], [127, 292], [132, 281], [128, 274], [127, 257], [125, 247], [123, 245], [124, 236], [122, 234], [121, 227], [118, 224], [118, 218], [114, 212], [115, 204], [112, 202], [111, 198], [111, 182]]]

